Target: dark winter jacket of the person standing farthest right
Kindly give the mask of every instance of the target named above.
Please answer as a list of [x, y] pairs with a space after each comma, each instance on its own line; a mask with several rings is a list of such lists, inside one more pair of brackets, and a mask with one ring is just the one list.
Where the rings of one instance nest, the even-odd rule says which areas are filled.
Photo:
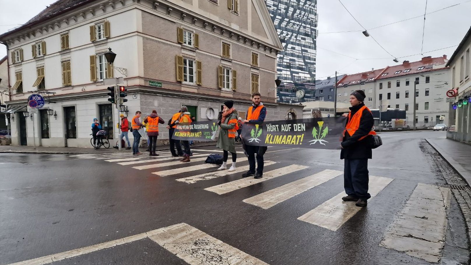
[[[363, 106], [365, 105], [360, 104], [355, 107], [350, 107], [350, 117], [353, 117], [353, 115], [355, 115], [355, 113], [357, 113], [357, 111]], [[352, 136], [345, 132], [345, 136], [343, 137], [343, 141], [341, 143], [343, 149], [340, 152], [340, 159], [372, 158], [371, 136], [366, 136], [362, 140], [359, 139], [365, 135], [368, 135], [368, 133], [373, 128], [373, 125], [373, 115], [367, 109], [364, 109], [360, 119], [360, 126], [358, 127], [358, 130]]]

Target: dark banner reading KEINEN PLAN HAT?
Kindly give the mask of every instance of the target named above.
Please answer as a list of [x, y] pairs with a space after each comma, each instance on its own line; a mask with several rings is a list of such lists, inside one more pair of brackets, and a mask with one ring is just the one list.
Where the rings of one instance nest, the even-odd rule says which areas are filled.
[[211, 136], [218, 132], [218, 127], [219, 125], [213, 121], [178, 124], [175, 132], [173, 132], [172, 139], [211, 141]]

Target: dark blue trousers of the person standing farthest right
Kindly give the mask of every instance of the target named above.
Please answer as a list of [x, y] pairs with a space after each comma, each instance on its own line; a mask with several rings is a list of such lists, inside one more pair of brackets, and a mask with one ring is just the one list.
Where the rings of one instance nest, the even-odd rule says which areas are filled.
[[368, 193], [368, 159], [345, 159], [343, 184], [347, 195], [358, 199], [370, 199]]

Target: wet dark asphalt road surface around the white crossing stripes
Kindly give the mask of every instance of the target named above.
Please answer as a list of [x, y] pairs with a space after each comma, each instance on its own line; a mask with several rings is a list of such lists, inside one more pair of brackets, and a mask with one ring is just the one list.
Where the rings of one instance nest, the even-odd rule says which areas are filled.
[[[189, 224], [270, 265], [430, 264], [379, 244], [418, 182], [442, 183], [422, 151], [421, 139], [445, 135], [430, 131], [382, 133], [383, 146], [374, 150], [369, 171], [370, 175], [394, 181], [337, 231], [297, 218], [340, 193], [342, 175], [269, 209], [242, 200], [325, 169], [343, 171], [339, 150], [269, 148], [265, 160], [277, 163], [266, 166], [264, 172], [292, 164], [309, 168], [223, 195], [203, 189], [240, 179], [240, 173], [187, 184], [175, 179], [217, 167], [161, 177], [151, 174], [155, 168], [136, 170], [132, 168], [135, 165], [98, 159], [0, 154], [0, 265], [179, 223]], [[214, 147], [204, 149], [209, 154]], [[246, 161], [238, 163], [245, 165]], [[440, 264], [467, 264], [469, 242], [454, 199], [448, 222]], [[52, 264], [187, 263], [147, 238]]]

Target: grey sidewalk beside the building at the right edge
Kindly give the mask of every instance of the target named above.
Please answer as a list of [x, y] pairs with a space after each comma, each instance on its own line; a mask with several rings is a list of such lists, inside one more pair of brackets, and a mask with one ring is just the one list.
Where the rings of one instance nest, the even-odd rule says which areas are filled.
[[471, 145], [445, 138], [425, 139], [471, 187]]

